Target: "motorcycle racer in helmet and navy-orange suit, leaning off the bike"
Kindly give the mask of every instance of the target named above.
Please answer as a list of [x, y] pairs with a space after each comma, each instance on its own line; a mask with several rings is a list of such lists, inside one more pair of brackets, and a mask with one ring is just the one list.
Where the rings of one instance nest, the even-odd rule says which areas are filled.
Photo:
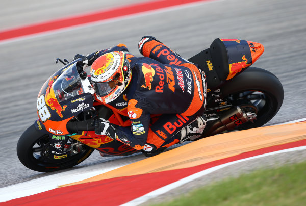
[[[131, 128], [101, 118], [94, 120], [95, 133], [152, 156], [200, 137], [206, 126], [206, 79], [199, 67], [154, 37], [142, 37], [138, 48], [143, 57], [118, 44], [74, 59], [91, 65], [96, 100], [116, 106], [116, 99], [127, 99]], [[155, 121], [157, 114], [162, 115]]]

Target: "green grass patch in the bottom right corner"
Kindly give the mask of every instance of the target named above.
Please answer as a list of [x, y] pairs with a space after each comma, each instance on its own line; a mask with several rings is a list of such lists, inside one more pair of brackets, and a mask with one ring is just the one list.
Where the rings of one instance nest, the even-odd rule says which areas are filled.
[[306, 205], [306, 162], [228, 178], [156, 205]]

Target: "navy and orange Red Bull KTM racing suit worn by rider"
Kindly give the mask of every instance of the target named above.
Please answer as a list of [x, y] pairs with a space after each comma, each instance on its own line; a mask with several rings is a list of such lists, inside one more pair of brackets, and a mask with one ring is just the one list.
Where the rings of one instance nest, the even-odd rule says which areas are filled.
[[[95, 125], [96, 133], [104, 132], [137, 150], [154, 152], [182, 141], [187, 132], [192, 132], [191, 122], [205, 124], [201, 117], [206, 107], [205, 73], [196, 65], [150, 36], [139, 42], [144, 57], [135, 57], [119, 44], [88, 55], [86, 63], [91, 65], [111, 51], [123, 51], [132, 68], [132, 80], [122, 94], [127, 98], [131, 128], [100, 120]], [[110, 104], [115, 107], [115, 102]]]

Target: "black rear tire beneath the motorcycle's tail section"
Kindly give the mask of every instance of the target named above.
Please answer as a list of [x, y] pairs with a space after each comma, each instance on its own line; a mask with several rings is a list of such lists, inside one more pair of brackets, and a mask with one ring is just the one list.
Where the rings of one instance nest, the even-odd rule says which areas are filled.
[[242, 107], [245, 112], [257, 113], [257, 120], [236, 127], [238, 130], [266, 124], [276, 115], [284, 100], [284, 89], [278, 78], [271, 72], [256, 67], [250, 67], [228, 81], [221, 91], [233, 105]]

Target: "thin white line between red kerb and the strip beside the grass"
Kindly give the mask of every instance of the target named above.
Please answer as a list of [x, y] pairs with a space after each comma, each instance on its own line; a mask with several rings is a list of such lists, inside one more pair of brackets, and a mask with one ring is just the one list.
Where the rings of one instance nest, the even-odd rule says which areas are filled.
[[158, 195], [162, 195], [164, 194], [165, 192], [168, 192], [174, 188], [177, 188], [177, 187], [180, 187], [186, 183], [189, 183], [191, 181], [194, 181], [195, 179], [199, 178], [199, 177], [202, 177], [206, 174], [209, 174], [209, 173], [212, 173], [216, 170], [219, 170], [219, 169], [222, 169], [224, 167], [227, 167], [227, 166], [230, 166], [230, 165], [233, 165], [233, 164], [236, 164], [236, 163], [239, 163], [239, 162], [244, 162], [244, 161], [247, 161], [247, 160], [253, 160], [253, 159], [257, 159], [257, 158], [262, 158], [262, 157], [266, 157], [266, 156], [270, 156], [270, 155], [276, 155], [276, 154], [279, 154], [279, 153], [284, 153], [284, 152], [290, 152], [290, 151], [298, 151], [298, 150], [303, 150], [303, 149], [306, 149], [306, 146], [301, 146], [301, 147], [294, 147], [294, 148], [290, 148], [290, 149], [284, 149], [284, 150], [279, 150], [279, 151], [274, 151], [274, 152], [270, 152], [270, 153], [265, 153], [263, 155], [258, 155], [258, 156], [254, 156], [254, 157], [250, 157], [250, 158], [245, 158], [245, 159], [241, 159], [241, 160], [236, 160], [234, 162], [229, 162], [229, 163], [225, 163], [225, 164], [222, 164], [222, 165], [218, 165], [218, 166], [215, 166], [215, 167], [212, 167], [212, 168], [209, 168], [209, 169], [206, 169], [206, 170], [203, 170], [203, 171], [200, 171], [200, 172], [197, 172], [195, 174], [192, 174], [188, 177], [185, 177], [183, 179], [180, 179], [179, 181], [176, 181], [174, 183], [171, 183], [169, 185], [166, 185], [164, 187], [161, 187], [157, 190], [154, 190], [150, 193], [147, 193], [141, 197], [138, 197], [130, 202], [127, 202], [125, 204], [121, 204], [121, 206], [135, 206], [135, 205], [139, 205], [141, 203], [144, 203], [146, 202], [147, 200], [151, 199], [151, 198], [154, 198], [154, 197], [157, 197]]

